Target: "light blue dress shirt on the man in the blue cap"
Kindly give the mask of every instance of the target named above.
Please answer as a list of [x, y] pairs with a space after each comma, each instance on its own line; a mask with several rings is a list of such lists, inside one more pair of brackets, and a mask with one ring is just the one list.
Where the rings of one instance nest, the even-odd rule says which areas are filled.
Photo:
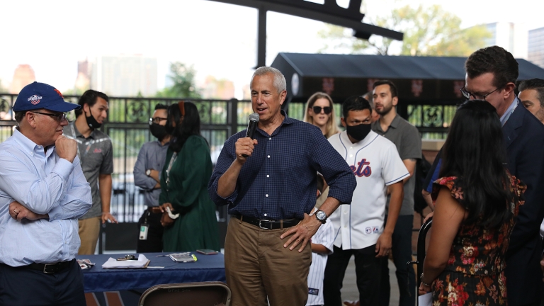
[[[0, 144], [0, 165], [0, 262], [25, 266], [74, 259], [80, 244], [77, 218], [92, 203], [79, 158], [61, 159], [54, 146], [44, 153], [15, 130]], [[13, 201], [50, 219], [13, 220], [8, 213]]]

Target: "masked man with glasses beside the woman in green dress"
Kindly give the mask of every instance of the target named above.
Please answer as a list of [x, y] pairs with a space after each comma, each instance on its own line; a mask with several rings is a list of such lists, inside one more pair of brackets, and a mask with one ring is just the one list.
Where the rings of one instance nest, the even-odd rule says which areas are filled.
[[134, 183], [144, 191], [144, 203], [147, 210], [144, 211], [138, 227], [140, 235], [136, 246], [137, 253], [161, 252], [162, 212], [159, 208], [159, 196], [161, 195], [161, 172], [166, 159], [166, 151], [170, 143], [170, 135], [166, 132], [168, 121], [168, 106], [157, 104], [153, 117], [149, 118], [149, 130], [157, 138], [152, 142], [146, 142], [134, 165]]

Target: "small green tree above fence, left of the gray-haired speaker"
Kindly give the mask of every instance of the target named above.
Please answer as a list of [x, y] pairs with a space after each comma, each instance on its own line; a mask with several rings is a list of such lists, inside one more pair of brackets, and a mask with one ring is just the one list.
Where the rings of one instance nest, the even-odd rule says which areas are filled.
[[186, 66], [182, 62], [170, 64], [168, 78], [172, 85], [162, 91], [157, 91], [158, 98], [200, 98], [200, 92], [195, 86], [196, 70], [193, 66]]

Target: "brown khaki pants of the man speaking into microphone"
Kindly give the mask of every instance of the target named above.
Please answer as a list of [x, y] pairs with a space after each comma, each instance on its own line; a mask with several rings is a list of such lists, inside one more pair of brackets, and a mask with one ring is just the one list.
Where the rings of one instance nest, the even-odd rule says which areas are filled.
[[260, 229], [232, 218], [225, 239], [225, 273], [232, 306], [304, 306], [312, 249], [290, 251], [280, 239], [288, 229]]

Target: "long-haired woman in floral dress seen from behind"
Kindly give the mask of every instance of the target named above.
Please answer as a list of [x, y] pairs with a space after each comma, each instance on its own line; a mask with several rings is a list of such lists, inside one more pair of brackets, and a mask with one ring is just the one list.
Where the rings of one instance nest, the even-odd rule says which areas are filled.
[[502, 126], [486, 101], [458, 108], [443, 149], [419, 294], [433, 306], [507, 305], [505, 254], [525, 186], [506, 170]]

